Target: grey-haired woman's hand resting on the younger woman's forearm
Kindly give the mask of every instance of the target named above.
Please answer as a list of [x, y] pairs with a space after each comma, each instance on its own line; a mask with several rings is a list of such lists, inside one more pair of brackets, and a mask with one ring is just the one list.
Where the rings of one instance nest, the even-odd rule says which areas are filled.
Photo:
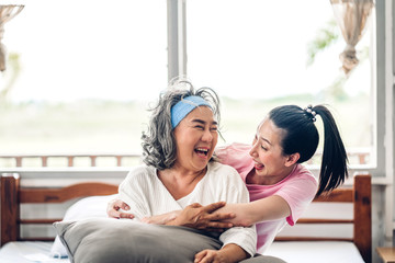
[[235, 217], [234, 213], [214, 213], [225, 206], [225, 202], [217, 202], [206, 206], [194, 203], [187, 206], [180, 214], [166, 225], [184, 226], [207, 231], [224, 231], [233, 224], [223, 221]]

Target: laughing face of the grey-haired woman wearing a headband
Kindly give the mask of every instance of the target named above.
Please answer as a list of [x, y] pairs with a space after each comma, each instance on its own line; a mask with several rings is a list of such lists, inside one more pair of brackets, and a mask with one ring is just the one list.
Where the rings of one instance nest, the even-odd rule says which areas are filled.
[[217, 123], [207, 106], [190, 112], [174, 128], [174, 168], [199, 172], [206, 168], [218, 140]]

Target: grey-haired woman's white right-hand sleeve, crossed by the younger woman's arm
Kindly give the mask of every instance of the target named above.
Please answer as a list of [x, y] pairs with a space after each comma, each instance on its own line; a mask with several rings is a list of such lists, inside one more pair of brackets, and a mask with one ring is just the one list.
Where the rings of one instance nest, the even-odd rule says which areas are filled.
[[[234, 170], [234, 173], [235, 175], [233, 176], [226, 176], [225, 174], [219, 175], [228, 180], [228, 182], [224, 182], [226, 186], [225, 188], [227, 190], [226, 202], [229, 204], [248, 203], [248, 190], [236, 170]], [[224, 243], [224, 245], [235, 243], [241, 247], [247, 253], [251, 255], [251, 258], [257, 252], [257, 231], [255, 225], [251, 227], [230, 228], [219, 236], [219, 240]]]

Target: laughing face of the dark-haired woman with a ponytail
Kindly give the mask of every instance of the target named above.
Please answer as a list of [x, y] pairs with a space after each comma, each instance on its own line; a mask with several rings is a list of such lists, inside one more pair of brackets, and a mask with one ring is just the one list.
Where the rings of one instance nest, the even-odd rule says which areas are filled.
[[250, 156], [255, 161], [255, 182], [274, 184], [289, 175], [293, 169], [293, 155], [283, 155], [281, 140], [285, 130], [278, 128], [270, 119], [258, 127]]

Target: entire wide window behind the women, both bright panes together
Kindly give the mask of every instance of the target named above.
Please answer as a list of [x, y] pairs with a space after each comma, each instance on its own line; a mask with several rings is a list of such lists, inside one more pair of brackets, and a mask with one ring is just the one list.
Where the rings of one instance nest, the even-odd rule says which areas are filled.
[[[15, 81], [1, 98], [0, 155], [140, 153], [148, 101], [179, 62], [168, 61], [169, 45], [180, 44], [167, 39], [167, 15], [177, 13], [168, 11], [177, 5], [170, 2], [177, 0], [26, 1], [4, 26], [10, 59], [0, 89]], [[308, 0], [304, 9], [297, 1], [184, 3], [187, 37], [180, 39], [188, 59], [179, 59], [196, 87], [222, 96], [226, 141], [218, 144], [249, 144], [276, 105], [325, 103], [350, 163], [374, 164], [374, 124], [366, 117], [374, 113], [372, 23], [357, 46], [360, 66], [345, 81], [338, 56], [346, 44], [328, 1]], [[334, 30], [337, 41], [308, 65], [323, 28]]]

